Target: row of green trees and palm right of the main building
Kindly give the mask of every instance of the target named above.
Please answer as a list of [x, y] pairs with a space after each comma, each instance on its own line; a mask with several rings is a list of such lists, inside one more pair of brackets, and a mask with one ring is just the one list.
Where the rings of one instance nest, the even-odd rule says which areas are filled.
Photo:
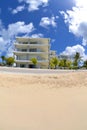
[[[82, 65], [80, 63], [82, 62]], [[63, 56], [63, 58], [58, 59], [57, 57], [52, 58], [50, 60], [50, 68], [51, 69], [87, 69], [87, 60], [82, 61], [82, 57], [80, 56], [79, 52], [76, 52], [76, 54], [73, 56], [72, 60], [67, 58], [66, 56]]]

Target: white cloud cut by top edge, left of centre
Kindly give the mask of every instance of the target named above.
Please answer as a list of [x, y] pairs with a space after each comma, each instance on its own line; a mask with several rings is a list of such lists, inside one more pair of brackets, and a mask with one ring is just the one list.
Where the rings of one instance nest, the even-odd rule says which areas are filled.
[[38, 10], [40, 6], [48, 5], [49, 0], [18, 0], [20, 3], [25, 2], [28, 5], [28, 11]]

